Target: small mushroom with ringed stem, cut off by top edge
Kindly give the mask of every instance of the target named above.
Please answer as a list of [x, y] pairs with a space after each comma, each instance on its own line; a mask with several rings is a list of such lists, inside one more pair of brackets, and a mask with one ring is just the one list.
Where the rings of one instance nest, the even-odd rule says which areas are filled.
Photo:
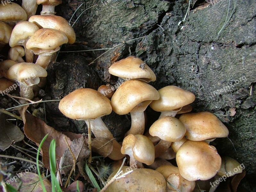
[[62, 0], [36, 0], [37, 4], [42, 4], [41, 15], [55, 15], [55, 6], [62, 4]]

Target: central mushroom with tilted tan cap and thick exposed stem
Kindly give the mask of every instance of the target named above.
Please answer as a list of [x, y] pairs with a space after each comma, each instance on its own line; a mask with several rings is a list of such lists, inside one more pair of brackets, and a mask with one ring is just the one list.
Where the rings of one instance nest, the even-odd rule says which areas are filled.
[[122, 83], [111, 99], [113, 111], [119, 115], [131, 114], [129, 134], [143, 134], [145, 129], [144, 111], [152, 100], [158, 100], [159, 94], [151, 85], [137, 79]]

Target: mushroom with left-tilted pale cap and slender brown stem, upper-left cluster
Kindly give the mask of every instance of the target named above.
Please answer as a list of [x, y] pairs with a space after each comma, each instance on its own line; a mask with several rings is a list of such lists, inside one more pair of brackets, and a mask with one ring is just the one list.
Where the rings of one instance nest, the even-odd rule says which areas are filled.
[[10, 38], [9, 45], [14, 47], [16, 45], [22, 45], [25, 49], [26, 62], [32, 63], [34, 53], [26, 48], [26, 43], [30, 37], [38, 31], [39, 28], [34, 23], [28, 21], [19, 22], [14, 28]]

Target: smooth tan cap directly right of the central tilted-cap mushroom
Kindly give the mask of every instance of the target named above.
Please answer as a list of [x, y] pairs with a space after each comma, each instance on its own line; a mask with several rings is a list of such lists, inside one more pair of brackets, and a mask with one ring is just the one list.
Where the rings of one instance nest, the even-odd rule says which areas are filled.
[[195, 95], [192, 92], [169, 85], [158, 90], [160, 99], [152, 101], [150, 107], [155, 111], [170, 111], [181, 108], [192, 103], [195, 100]]

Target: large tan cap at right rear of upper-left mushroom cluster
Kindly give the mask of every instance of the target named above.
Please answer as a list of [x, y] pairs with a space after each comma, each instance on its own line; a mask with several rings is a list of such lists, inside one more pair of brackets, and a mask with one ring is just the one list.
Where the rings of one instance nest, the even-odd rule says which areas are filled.
[[29, 18], [29, 22], [35, 23], [39, 28], [52, 28], [63, 32], [70, 44], [75, 43], [76, 35], [74, 29], [67, 20], [56, 15], [34, 15]]

